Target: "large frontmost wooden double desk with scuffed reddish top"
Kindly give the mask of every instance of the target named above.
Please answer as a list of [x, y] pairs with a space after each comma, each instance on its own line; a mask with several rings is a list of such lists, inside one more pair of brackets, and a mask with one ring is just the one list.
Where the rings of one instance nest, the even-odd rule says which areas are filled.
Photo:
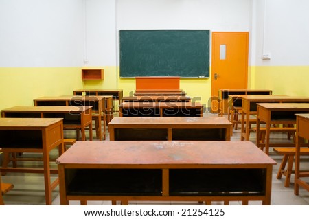
[[249, 141], [78, 141], [56, 163], [60, 205], [69, 200], [270, 205], [275, 161]]

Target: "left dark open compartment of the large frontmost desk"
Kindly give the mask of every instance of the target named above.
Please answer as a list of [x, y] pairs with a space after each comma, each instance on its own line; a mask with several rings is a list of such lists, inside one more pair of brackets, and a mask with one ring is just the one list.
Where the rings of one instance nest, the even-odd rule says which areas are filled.
[[161, 196], [161, 170], [67, 169], [67, 195]]

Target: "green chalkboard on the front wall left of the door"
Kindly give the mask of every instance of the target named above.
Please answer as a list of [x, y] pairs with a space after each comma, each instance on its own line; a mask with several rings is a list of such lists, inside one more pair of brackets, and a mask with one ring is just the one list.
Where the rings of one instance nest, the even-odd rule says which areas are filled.
[[120, 30], [120, 77], [209, 77], [209, 30]]

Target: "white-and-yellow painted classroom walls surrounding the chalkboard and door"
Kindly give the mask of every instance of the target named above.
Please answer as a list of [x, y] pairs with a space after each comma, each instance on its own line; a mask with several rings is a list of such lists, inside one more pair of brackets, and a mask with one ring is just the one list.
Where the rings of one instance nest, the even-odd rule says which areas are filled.
[[[249, 32], [249, 87], [309, 96], [308, 7], [304, 0], [0, 0], [0, 110], [74, 89], [130, 95], [135, 80], [119, 78], [119, 30]], [[104, 68], [104, 80], [82, 81], [82, 67]], [[211, 78], [181, 79], [181, 89], [207, 104]]]

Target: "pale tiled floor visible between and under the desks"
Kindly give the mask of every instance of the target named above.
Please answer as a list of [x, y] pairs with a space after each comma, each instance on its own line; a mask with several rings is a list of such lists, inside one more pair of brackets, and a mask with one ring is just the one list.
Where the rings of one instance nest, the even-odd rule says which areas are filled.
[[[217, 116], [214, 114], [207, 114], [205, 116]], [[72, 137], [73, 133], [69, 133]], [[94, 138], [95, 139], [95, 138]], [[276, 141], [287, 141], [286, 135], [275, 133], [272, 139]], [[255, 133], [251, 133], [250, 140], [255, 143]], [[233, 130], [231, 141], [240, 141], [240, 129]], [[276, 178], [279, 163], [282, 157], [278, 156], [271, 149], [270, 156], [277, 161], [277, 165], [273, 166], [273, 187], [271, 195], [271, 205], [309, 205], [309, 192], [300, 189], [299, 196], [295, 196], [293, 191], [294, 178], [292, 176], [290, 187], [284, 187], [284, 176], [278, 180]], [[56, 152], [55, 154], [56, 155]], [[22, 165], [41, 165], [40, 163], [27, 162]], [[56, 164], [53, 164], [56, 168]], [[309, 157], [301, 159], [301, 166], [309, 170]], [[53, 179], [56, 176], [53, 177]], [[13, 183], [14, 189], [8, 194], [5, 194], [4, 201], [6, 205], [45, 205], [45, 194], [43, 184], [43, 174], [22, 174], [22, 173], [8, 173], [2, 176], [3, 182]], [[308, 178], [309, 181], [309, 178]], [[58, 187], [54, 190], [53, 205], [60, 205], [60, 198], [58, 196]], [[79, 202], [71, 201], [70, 205], [80, 205]], [[88, 205], [111, 205], [110, 201], [89, 201]], [[130, 202], [130, 205], [201, 205], [196, 202]], [[212, 205], [223, 205], [220, 202], [213, 202]], [[231, 202], [230, 205], [240, 205], [239, 202]], [[261, 202], [249, 202], [249, 205], [261, 205]]]

